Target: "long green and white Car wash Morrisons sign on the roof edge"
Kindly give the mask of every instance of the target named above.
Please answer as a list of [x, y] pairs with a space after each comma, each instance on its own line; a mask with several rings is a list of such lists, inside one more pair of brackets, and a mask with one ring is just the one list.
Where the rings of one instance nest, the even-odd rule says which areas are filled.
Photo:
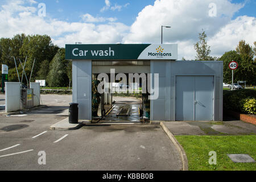
[[67, 60], [177, 60], [177, 44], [66, 44]]

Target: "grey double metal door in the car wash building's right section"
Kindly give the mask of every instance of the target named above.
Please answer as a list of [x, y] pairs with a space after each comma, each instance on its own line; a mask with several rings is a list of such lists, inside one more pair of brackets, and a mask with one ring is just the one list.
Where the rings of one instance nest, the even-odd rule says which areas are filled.
[[213, 85], [213, 76], [177, 76], [176, 121], [212, 121]]

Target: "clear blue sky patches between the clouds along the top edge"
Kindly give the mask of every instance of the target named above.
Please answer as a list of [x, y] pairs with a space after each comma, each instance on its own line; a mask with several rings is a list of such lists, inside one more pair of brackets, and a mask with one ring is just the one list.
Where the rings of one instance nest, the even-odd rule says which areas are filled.
[[[2, 1], [3, 5], [6, 1]], [[94, 16], [116, 17], [118, 22], [122, 22], [130, 26], [136, 19], [138, 13], [148, 5], [154, 5], [155, 0], [111, 0], [111, 5], [127, 5], [122, 7], [121, 11], [108, 10], [100, 12], [102, 7], [105, 6], [105, 0], [89, 1], [89, 0], [39, 0], [46, 4], [47, 14], [51, 18], [58, 18], [68, 22], [79, 22], [80, 16], [83, 14], [91, 14]], [[245, 6], [238, 10], [232, 19], [237, 16], [247, 15], [256, 16], [256, 1], [254, 0], [232, 0], [232, 3], [244, 3]], [[29, 4], [29, 3], [27, 3]], [[36, 6], [35, 6], [36, 7]]]

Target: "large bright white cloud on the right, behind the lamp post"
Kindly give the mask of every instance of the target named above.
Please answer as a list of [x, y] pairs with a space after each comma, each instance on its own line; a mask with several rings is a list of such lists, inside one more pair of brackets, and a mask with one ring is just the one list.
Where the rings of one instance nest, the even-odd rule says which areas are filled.
[[[216, 4], [215, 17], [209, 16], [210, 3]], [[161, 26], [171, 26], [163, 28], [163, 43], [178, 43], [179, 59], [195, 59], [193, 44], [204, 29], [211, 55], [220, 56], [226, 50], [234, 49], [241, 39], [252, 42], [250, 38], [255, 37], [255, 31], [251, 31], [255, 30], [254, 17], [232, 20], [234, 13], [243, 6], [229, 0], [156, 0], [154, 5], [144, 7], [138, 14], [123, 43], [160, 43]], [[238, 34], [236, 30], [243, 32]], [[223, 40], [230, 42], [224, 43]]]

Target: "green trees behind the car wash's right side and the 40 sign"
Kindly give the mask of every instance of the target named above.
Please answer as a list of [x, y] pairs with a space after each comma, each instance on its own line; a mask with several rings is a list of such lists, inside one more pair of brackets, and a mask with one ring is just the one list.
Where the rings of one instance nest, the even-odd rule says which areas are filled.
[[[234, 70], [234, 82], [246, 81], [246, 84], [256, 85], [256, 42], [254, 48], [241, 40], [236, 50], [225, 52], [221, 57], [210, 56], [210, 46], [207, 45], [205, 31], [199, 33], [199, 41], [194, 45], [196, 60], [223, 61], [223, 82], [232, 82], [232, 71], [229, 68], [230, 61], [236, 61], [238, 68]], [[225, 43], [223, 43], [225, 44]], [[183, 58], [183, 60], [185, 60]]]

